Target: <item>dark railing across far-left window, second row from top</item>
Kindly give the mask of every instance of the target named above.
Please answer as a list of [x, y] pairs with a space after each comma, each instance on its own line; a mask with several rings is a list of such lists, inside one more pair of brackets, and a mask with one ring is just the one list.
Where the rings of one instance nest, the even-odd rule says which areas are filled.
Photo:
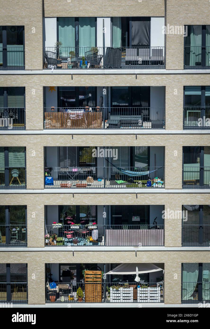
[[25, 108], [0, 107], [0, 130], [22, 130], [25, 128]]

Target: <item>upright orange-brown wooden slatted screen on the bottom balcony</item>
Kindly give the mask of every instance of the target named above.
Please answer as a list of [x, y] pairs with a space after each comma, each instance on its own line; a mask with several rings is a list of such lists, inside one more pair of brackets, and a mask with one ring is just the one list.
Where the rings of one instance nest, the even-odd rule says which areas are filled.
[[85, 271], [85, 302], [102, 302], [102, 272]]

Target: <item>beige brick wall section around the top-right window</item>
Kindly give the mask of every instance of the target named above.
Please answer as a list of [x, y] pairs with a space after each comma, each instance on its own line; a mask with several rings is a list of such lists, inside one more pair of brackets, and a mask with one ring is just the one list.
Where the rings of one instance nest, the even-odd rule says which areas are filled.
[[[209, 1], [167, 0], [166, 24], [170, 26], [208, 25], [210, 16]], [[183, 35], [166, 35], [166, 69], [183, 69], [184, 37]]]

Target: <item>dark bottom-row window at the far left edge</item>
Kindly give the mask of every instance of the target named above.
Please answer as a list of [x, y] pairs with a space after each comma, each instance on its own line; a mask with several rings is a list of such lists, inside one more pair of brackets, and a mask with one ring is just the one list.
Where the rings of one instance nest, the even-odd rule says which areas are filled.
[[27, 264], [0, 264], [0, 301], [27, 303]]

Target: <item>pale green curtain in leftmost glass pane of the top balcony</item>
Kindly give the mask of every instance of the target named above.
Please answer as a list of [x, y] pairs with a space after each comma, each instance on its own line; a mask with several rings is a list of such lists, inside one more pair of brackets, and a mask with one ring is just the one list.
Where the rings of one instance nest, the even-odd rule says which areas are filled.
[[61, 57], [69, 57], [69, 51], [75, 51], [75, 22], [74, 17], [58, 18], [58, 37], [62, 42]]

